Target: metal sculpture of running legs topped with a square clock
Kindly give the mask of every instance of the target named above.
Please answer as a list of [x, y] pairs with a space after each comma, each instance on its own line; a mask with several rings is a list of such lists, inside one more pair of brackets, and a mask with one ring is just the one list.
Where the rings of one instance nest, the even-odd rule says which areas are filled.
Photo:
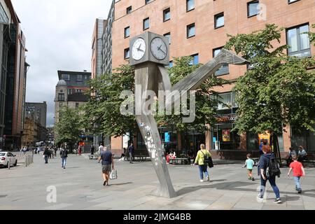
[[[142, 94], [147, 90], [153, 90], [158, 96], [159, 90], [171, 91], [172, 97], [165, 102], [165, 107], [172, 106], [181, 100], [176, 91], [196, 90], [209, 76], [213, 75], [223, 64], [246, 64], [246, 59], [235, 55], [228, 50], [221, 52], [210, 62], [190, 73], [172, 87], [169, 74], [165, 65], [169, 65], [169, 39], [165, 36], [146, 32], [135, 36], [130, 41], [130, 64], [135, 66], [135, 112], [139, 130], [145, 141], [148, 153], [151, 156], [153, 167], [160, 181], [160, 186], [153, 195], [160, 197], [176, 197], [173, 188], [165, 152], [162, 148], [158, 125], [153, 115], [148, 115], [142, 110], [142, 105], [148, 100], [143, 99]], [[172, 98], [174, 101], [172, 101]]]

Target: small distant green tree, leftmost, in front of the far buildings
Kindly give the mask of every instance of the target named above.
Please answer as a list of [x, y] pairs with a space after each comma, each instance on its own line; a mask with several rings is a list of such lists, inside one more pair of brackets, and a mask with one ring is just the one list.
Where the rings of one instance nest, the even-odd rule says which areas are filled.
[[79, 113], [77, 109], [69, 109], [65, 107], [59, 111], [59, 122], [55, 125], [57, 132], [56, 144], [67, 144], [72, 151], [73, 146], [80, 141]]

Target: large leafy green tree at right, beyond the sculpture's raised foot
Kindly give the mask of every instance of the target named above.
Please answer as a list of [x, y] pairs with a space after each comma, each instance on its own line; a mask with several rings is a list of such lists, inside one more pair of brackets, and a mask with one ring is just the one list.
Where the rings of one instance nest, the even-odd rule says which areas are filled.
[[314, 130], [315, 73], [309, 69], [314, 59], [286, 55], [288, 45], [274, 48], [282, 30], [266, 25], [251, 34], [230, 36], [225, 45], [251, 62], [235, 85], [239, 133], [282, 134], [288, 124], [296, 130]]

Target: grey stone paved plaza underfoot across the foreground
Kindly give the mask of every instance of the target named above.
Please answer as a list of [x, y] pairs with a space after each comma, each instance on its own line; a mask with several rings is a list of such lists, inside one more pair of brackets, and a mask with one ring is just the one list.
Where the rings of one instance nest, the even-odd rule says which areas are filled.
[[[286, 176], [288, 169], [281, 169], [277, 184], [282, 204], [274, 204], [269, 183], [267, 200], [257, 202], [260, 181], [248, 180], [242, 163], [216, 165], [210, 170], [211, 181], [204, 183], [199, 181], [197, 166], [169, 165], [178, 197], [167, 199], [151, 195], [158, 186], [151, 162], [115, 162], [118, 179], [106, 187], [101, 165], [86, 155], [70, 155], [66, 169], [59, 157], [45, 165], [41, 155], [34, 155], [29, 167], [0, 168], [0, 210], [315, 209], [315, 168], [305, 170], [302, 195], [295, 192], [293, 177]], [[55, 203], [47, 200], [51, 188], [57, 190]]]

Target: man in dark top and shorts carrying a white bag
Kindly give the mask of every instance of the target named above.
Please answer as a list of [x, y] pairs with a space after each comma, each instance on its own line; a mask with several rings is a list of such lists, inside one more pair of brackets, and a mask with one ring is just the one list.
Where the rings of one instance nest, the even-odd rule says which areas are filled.
[[99, 162], [102, 160], [102, 174], [104, 179], [103, 186], [109, 186], [109, 174], [111, 173], [111, 170], [114, 169], [113, 154], [109, 148], [104, 149], [105, 151], [102, 151], [99, 156]]

